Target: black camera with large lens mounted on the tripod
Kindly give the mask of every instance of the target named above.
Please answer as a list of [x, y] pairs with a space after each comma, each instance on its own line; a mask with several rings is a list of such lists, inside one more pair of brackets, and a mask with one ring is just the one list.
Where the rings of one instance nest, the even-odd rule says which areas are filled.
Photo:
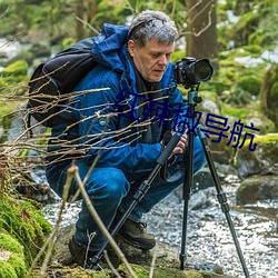
[[186, 57], [173, 67], [175, 81], [183, 85], [186, 89], [208, 81], [214, 73], [214, 68], [208, 59], [196, 60], [193, 57]]

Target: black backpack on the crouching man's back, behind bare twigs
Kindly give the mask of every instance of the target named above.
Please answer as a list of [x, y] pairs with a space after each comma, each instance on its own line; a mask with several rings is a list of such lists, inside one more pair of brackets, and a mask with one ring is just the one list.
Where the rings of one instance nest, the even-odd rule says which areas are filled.
[[52, 127], [73, 88], [96, 66], [91, 47], [93, 38], [83, 39], [41, 63], [29, 80], [28, 127], [31, 117]]

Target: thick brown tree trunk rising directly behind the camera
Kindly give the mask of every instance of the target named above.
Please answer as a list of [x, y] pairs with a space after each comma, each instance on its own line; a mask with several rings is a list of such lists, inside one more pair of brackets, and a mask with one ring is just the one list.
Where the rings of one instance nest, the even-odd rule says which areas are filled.
[[186, 0], [188, 10], [187, 56], [208, 58], [218, 66], [217, 0]]

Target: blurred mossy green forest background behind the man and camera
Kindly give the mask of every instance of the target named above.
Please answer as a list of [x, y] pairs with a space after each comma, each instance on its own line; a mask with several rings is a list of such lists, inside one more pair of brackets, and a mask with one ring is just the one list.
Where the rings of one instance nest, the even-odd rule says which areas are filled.
[[[254, 123], [260, 135], [277, 131], [275, 0], [0, 0], [0, 37], [4, 39], [0, 44], [1, 141], [7, 139], [12, 120], [3, 116], [26, 101], [30, 73], [39, 62], [80, 39], [96, 36], [105, 22], [129, 24], [146, 9], [165, 11], [176, 21], [180, 36], [172, 62], [183, 57], [209, 58], [212, 62], [214, 77], [200, 87], [205, 100], [217, 105], [212, 112]], [[21, 48], [9, 57], [6, 49], [16, 43]], [[199, 110], [206, 110], [206, 105]]]

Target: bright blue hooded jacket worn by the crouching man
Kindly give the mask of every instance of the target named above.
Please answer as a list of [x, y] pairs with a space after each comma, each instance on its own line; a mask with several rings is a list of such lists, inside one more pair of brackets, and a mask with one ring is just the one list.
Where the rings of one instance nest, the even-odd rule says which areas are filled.
[[[105, 24], [96, 37], [92, 53], [98, 66], [77, 86], [76, 97], [69, 103], [70, 112], [63, 112], [52, 128], [53, 138], [70, 143], [63, 143], [63, 147], [58, 147], [58, 143], [50, 147], [50, 151], [69, 148], [67, 158], [75, 152], [88, 163], [98, 156], [98, 167], [116, 167], [127, 172], [150, 170], [156, 165], [162, 148], [161, 138], [153, 143], [138, 141], [135, 122], [138, 109], [132, 107], [137, 96], [136, 75], [127, 59], [127, 27]], [[172, 79], [171, 63], [161, 80], [161, 88], [163, 96], [169, 97], [167, 105], [172, 112], [176, 108], [187, 110]], [[122, 109], [127, 112], [123, 113]], [[69, 125], [72, 117], [77, 123]]]

